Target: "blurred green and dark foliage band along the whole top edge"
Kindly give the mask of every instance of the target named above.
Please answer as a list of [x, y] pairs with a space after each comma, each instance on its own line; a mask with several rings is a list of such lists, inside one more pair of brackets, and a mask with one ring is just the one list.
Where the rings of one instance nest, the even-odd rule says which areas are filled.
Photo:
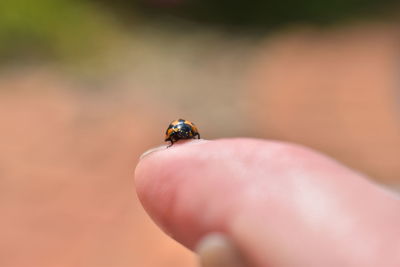
[[118, 34], [121, 36], [118, 25], [126, 22], [132, 25], [132, 17], [136, 15], [145, 18], [139, 23], [146, 18], [152, 21], [172, 16], [200, 25], [268, 30], [288, 23], [333, 23], [360, 15], [377, 15], [395, 2], [3, 0], [0, 1], [0, 65], [30, 59], [76, 60], [95, 54], [112, 45]]

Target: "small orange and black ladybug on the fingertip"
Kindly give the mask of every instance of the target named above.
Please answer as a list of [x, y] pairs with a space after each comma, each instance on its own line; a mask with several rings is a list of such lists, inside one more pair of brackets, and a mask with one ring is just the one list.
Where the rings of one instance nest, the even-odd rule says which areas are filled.
[[165, 133], [165, 141], [170, 141], [172, 146], [176, 141], [181, 139], [194, 139], [197, 136], [200, 139], [199, 131], [193, 122], [188, 120], [174, 120], [170, 123]]

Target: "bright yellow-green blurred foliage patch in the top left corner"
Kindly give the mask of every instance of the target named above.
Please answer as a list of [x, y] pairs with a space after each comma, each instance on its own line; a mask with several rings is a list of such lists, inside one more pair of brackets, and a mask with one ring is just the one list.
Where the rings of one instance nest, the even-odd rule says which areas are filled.
[[79, 58], [104, 45], [110, 29], [86, 1], [0, 1], [0, 60]]

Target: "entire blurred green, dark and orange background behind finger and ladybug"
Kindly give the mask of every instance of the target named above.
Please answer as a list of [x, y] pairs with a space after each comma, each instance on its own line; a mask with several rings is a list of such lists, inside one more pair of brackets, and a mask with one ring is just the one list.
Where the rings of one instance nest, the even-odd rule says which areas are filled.
[[0, 266], [195, 266], [134, 191], [185, 118], [320, 150], [400, 188], [400, 6], [0, 1]]

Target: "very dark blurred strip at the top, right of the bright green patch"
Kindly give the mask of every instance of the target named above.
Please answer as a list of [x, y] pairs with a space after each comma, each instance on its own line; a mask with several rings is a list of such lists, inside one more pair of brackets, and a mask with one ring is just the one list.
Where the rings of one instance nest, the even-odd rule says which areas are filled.
[[[105, 0], [108, 2], [109, 0]], [[121, 6], [143, 8], [209, 25], [271, 29], [293, 23], [332, 24], [360, 16], [387, 13], [395, 0], [116, 0]]]

